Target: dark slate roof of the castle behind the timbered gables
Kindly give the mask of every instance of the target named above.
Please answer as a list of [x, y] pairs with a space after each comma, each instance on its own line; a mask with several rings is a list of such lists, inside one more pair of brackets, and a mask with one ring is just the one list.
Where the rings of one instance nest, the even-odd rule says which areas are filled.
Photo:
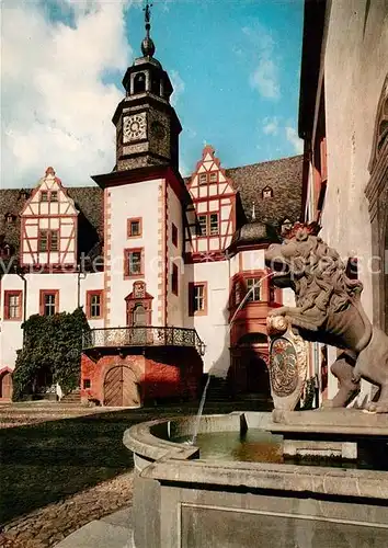
[[[298, 220], [301, 215], [301, 171], [303, 156], [227, 169], [226, 174], [238, 191], [238, 204], [241, 204], [243, 214], [241, 216], [241, 212], [238, 212], [240, 218], [238, 225], [241, 227], [248, 221], [256, 222], [259, 227], [259, 224], [262, 224], [261, 238], [265, 238], [264, 225], [281, 224], [285, 218], [293, 222]], [[273, 197], [263, 198], [262, 191], [267, 186], [273, 190]], [[65, 189], [80, 212], [79, 252], [94, 254], [96, 247], [101, 248], [103, 243], [103, 191], [99, 186], [65, 186]], [[8, 243], [14, 252], [18, 252], [20, 247], [19, 214], [30, 194], [31, 189], [0, 190], [0, 246]], [[254, 218], [252, 218], [253, 203]], [[7, 222], [8, 214], [15, 216], [13, 222]], [[244, 228], [244, 236], [248, 236], [247, 230], [248, 228]], [[259, 236], [256, 233], [258, 239]]]

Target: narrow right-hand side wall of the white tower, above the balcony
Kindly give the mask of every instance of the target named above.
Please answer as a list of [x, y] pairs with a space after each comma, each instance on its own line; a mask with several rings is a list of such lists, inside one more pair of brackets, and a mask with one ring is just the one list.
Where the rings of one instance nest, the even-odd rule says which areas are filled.
[[[168, 241], [167, 241], [167, 256], [169, 260], [169, 283], [168, 283], [168, 296], [167, 296], [167, 308], [168, 308], [168, 324], [183, 327], [184, 312], [187, 315], [187, 309], [185, 309], [186, 300], [185, 297], [185, 285], [184, 285], [184, 270], [185, 265], [182, 258], [183, 249], [183, 217], [182, 217], [182, 205], [171, 186], [168, 186], [167, 191], [167, 212], [168, 212]], [[172, 243], [172, 222], [178, 228], [178, 247]], [[171, 275], [172, 275], [172, 264], [174, 262], [179, 270], [179, 281], [178, 281], [178, 296], [172, 293], [171, 287]]]

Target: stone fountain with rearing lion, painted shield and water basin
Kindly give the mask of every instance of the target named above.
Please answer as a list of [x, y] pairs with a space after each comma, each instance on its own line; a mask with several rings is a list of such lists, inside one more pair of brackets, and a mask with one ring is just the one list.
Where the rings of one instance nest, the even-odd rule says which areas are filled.
[[[275, 410], [127, 430], [124, 443], [136, 468], [137, 548], [388, 546], [388, 338], [372, 327], [360, 302], [362, 285], [346, 277], [316, 226], [294, 226], [283, 246], [267, 250], [266, 263], [275, 283], [296, 294], [295, 308], [276, 309], [269, 318]], [[306, 381], [306, 341], [342, 351], [332, 366], [339, 393], [328, 409], [295, 411]], [[345, 409], [362, 377], [379, 387], [366, 413]], [[178, 443], [196, 429], [198, 438], [281, 434], [281, 455], [265, 458], [275, 447], [270, 441], [270, 450], [258, 450], [256, 459], [209, 458], [199, 439], [197, 447]]]

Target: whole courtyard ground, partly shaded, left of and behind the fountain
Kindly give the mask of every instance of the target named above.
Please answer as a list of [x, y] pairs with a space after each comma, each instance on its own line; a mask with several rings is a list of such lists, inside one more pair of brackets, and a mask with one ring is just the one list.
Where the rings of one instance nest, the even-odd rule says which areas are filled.
[[[243, 409], [247, 402], [208, 402], [205, 413]], [[122, 527], [106, 516], [132, 504], [133, 457], [123, 445], [124, 431], [138, 422], [196, 410], [195, 402], [141, 409], [42, 401], [1, 404], [0, 546], [49, 548], [87, 524], [92, 524], [87, 536]], [[127, 534], [119, 528], [116, 533], [119, 543], [121, 534]], [[73, 548], [83, 546], [89, 548]]]

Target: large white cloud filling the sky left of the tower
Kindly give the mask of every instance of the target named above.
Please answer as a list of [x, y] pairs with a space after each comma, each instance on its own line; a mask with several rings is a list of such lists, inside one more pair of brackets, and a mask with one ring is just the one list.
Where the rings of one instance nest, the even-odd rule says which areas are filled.
[[56, 3], [71, 26], [36, 1], [2, 5], [3, 186], [30, 186], [47, 165], [65, 185], [89, 184], [115, 163], [111, 118], [124, 90], [103, 77], [128, 65], [124, 9], [134, 0]]

